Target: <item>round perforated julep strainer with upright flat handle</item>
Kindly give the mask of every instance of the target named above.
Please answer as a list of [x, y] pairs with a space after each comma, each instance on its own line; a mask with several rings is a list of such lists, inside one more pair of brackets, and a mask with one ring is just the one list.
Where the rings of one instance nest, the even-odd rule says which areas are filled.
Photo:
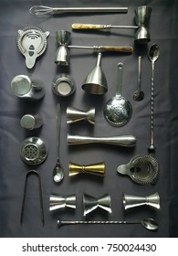
[[123, 64], [118, 63], [118, 82], [116, 96], [111, 98], [104, 107], [104, 117], [112, 126], [120, 127], [131, 120], [131, 102], [121, 96]]

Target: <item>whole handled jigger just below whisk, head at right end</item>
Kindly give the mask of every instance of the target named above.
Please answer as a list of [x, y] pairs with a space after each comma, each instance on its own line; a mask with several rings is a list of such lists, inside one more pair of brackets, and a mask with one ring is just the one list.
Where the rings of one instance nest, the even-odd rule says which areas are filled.
[[136, 29], [135, 43], [148, 43], [151, 40], [148, 25], [152, 14], [150, 6], [142, 5], [135, 9], [135, 23], [137, 26], [115, 26], [115, 25], [94, 25], [94, 24], [72, 24], [73, 29], [107, 29], [110, 28], [133, 28]]

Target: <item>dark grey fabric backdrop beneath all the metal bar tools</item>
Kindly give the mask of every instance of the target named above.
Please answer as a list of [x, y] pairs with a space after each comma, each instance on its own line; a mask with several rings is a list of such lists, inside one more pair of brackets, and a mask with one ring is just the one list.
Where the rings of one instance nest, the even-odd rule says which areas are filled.
[[[61, 16], [31, 16], [28, 12], [32, 5], [50, 6], [129, 6], [128, 14], [66, 14]], [[57, 50], [55, 32], [58, 29], [71, 31], [71, 24], [98, 23], [112, 25], [134, 25], [134, 9], [139, 5], [152, 6], [150, 32], [152, 43], [160, 47], [161, 56], [155, 63], [155, 104], [154, 134], [156, 156], [160, 165], [160, 176], [155, 186], [141, 187], [129, 177], [119, 176], [118, 165], [128, 163], [132, 156], [148, 154], [150, 144], [151, 113], [151, 75], [152, 66], [147, 58], [147, 47], [134, 46], [134, 30], [111, 30], [105, 32], [76, 32], [71, 35], [73, 45], [127, 45], [132, 46], [132, 55], [103, 54], [102, 69], [108, 80], [109, 91], [104, 96], [92, 96], [81, 90], [84, 78], [96, 62], [96, 54], [77, 49], [70, 50], [71, 65], [68, 68], [58, 67], [54, 63]], [[155, 1], [0, 1], [0, 237], [176, 237], [178, 235], [178, 79], [177, 79], [177, 43], [178, 43], [178, 2], [173, 0]], [[27, 26], [41, 27], [50, 32], [47, 38], [47, 51], [37, 59], [34, 69], [28, 70], [25, 58], [16, 48], [16, 33]], [[138, 56], [142, 56], [142, 89], [145, 98], [141, 102], [132, 100], [137, 83]], [[123, 62], [122, 94], [131, 101], [133, 115], [131, 122], [121, 128], [111, 127], [103, 117], [103, 105], [115, 95], [117, 63]], [[51, 81], [61, 72], [68, 72], [76, 81], [77, 91], [68, 98], [60, 99], [51, 91]], [[20, 101], [9, 90], [11, 80], [18, 74], [25, 74], [44, 82], [46, 96], [43, 101], [27, 103]], [[61, 151], [60, 160], [65, 168], [65, 179], [59, 185], [52, 181], [52, 169], [56, 163], [56, 121], [57, 102], [62, 106]], [[68, 106], [88, 110], [96, 108], [96, 124], [66, 123]], [[38, 112], [44, 118], [44, 126], [38, 132], [24, 131], [19, 120], [26, 112]], [[67, 145], [67, 133], [84, 135], [121, 135], [133, 134], [138, 142], [133, 149], [123, 149], [111, 145]], [[20, 226], [20, 210], [23, 188], [27, 170], [19, 157], [19, 146], [28, 136], [38, 135], [47, 143], [47, 161], [37, 170], [40, 171], [45, 227], [42, 227], [37, 193], [37, 179], [31, 176], [28, 180], [26, 208], [23, 225]], [[105, 161], [106, 176], [104, 179], [95, 176], [68, 177], [68, 163], [88, 165]], [[124, 212], [122, 193], [149, 195], [158, 191], [161, 197], [161, 210], [137, 208], [129, 213]], [[141, 225], [125, 226], [64, 226], [57, 227], [57, 219], [84, 219], [82, 196], [88, 193], [100, 197], [109, 193], [112, 213], [103, 210], [95, 211], [88, 219], [156, 219], [160, 228], [156, 232], [143, 229]], [[77, 195], [77, 208], [49, 212], [49, 195], [58, 193], [68, 196]]]

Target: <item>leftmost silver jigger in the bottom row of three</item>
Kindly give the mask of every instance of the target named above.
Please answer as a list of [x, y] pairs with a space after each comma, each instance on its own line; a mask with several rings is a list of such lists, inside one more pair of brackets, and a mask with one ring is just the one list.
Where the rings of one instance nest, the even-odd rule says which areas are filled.
[[59, 208], [76, 208], [76, 195], [65, 197], [51, 194], [49, 197], [49, 210], [52, 211]]

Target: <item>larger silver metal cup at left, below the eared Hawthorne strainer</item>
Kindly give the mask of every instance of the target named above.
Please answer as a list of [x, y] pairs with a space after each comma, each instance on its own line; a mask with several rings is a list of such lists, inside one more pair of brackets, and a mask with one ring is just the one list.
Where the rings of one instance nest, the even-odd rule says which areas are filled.
[[16, 97], [29, 101], [38, 101], [45, 95], [45, 87], [41, 81], [26, 75], [17, 75], [14, 77], [11, 81], [11, 91]]

